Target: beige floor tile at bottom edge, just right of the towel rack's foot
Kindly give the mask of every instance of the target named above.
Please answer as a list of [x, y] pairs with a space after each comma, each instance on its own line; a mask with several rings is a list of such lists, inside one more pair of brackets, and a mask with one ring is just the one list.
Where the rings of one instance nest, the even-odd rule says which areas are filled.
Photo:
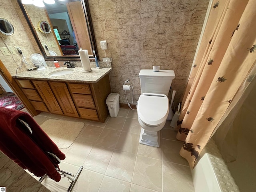
[[72, 192], [98, 192], [104, 175], [83, 169]]

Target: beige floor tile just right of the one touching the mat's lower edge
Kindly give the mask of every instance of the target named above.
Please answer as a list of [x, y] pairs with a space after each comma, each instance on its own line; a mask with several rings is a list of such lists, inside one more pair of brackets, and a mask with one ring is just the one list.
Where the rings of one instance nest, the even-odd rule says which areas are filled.
[[84, 162], [84, 168], [105, 174], [113, 151], [110, 148], [94, 146]]

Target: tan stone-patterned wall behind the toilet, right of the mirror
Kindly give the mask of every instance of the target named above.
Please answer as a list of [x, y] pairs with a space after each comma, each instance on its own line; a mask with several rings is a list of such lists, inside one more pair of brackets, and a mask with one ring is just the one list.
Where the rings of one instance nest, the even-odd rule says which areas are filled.
[[[110, 84], [127, 103], [122, 90], [129, 78], [134, 101], [140, 96], [141, 69], [174, 70], [172, 83], [176, 104], [182, 96], [194, 59], [209, 0], [88, 0], [100, 60], [105, 53], [100, 41], [107, 40], [106, 56], [112, 57]], [[132, 91], [128, 93], [132, 101]]]

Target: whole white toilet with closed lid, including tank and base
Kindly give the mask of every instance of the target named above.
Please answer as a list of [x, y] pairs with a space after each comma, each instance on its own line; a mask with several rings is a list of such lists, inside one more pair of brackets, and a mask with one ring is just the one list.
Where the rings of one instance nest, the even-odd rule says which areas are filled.
[[172, 80], [173, 70], [152, 69], [140, 70], [141, 95], [138, 100], [138, 121], [141, 126], [140, 144], [159, 147], [160, 130], [164, 127], [168, 113], [167, 98]]

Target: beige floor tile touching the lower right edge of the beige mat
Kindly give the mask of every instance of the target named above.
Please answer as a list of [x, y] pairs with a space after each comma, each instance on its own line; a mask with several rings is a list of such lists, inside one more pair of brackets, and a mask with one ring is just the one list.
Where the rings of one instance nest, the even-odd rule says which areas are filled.
[[66, 159], [63, 161], [72, 165], [81, 166], [90, 151], [92, 150], [92, 144], [75, 141], [66, 154]]

